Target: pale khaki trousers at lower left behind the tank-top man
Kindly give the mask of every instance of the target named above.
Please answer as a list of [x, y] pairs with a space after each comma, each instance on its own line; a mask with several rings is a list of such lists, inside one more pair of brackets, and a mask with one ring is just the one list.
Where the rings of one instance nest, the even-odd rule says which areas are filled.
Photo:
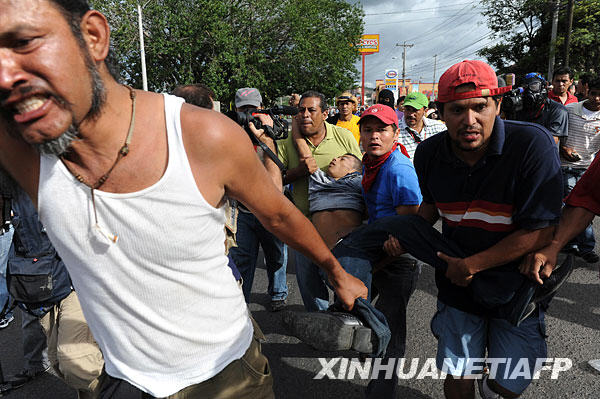
[[79, 399], [99, 397], [104, 358], [88, 328], [75, 291], [54, 306], [40, 324], [48, 339], [48, 359]]

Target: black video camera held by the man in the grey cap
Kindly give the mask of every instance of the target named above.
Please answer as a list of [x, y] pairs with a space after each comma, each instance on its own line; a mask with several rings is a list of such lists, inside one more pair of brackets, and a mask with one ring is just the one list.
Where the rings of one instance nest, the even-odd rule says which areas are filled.
[[[244, 128], [246, 133], [250, 136], [253, 143], [256, 143], [257, 139], [254, 133], [250, 130], [249, 123], [252, 122], [256, 129], [264, 129], [265, 133], [273, 140], [284, 140], [288, 137], [288, 126], [287, 120], [283, 119], [281, 115], [296, 115], [298, 108], [296, 107], [285, 107], [275, 106], [269, 109], [251, 109], [244, 112], [229, 111], [227, 115], [231, 120]], [[255, 118], [256, 114], [269, 115], [273, 119], [273, 127], [263, 125], [260, 119]]]

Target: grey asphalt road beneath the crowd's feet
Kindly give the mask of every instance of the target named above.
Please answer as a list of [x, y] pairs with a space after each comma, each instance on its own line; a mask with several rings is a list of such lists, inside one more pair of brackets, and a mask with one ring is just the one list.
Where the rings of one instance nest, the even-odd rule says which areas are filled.
[[[600, 222], [596, 219], [596, 236], [600, 237]], [[291, 257], [293, 258], [293, 257]], [[293, 261], [288, 267], [290, 288], [289, 309], [302, 309], [302, 301], [295, 281]], [[259, 264], [262, 264], [259, 262]], [[589, 265], [578, 259], [576, 269], [550, 305], [546, 316], [548, 357], [569, 358], [572, 368], [551, 379], [544, 371], [521, 396], [523, 399], [599, 398], [600, 372], [587, 361], [600, 359], [600, 279], [599, 264]], [[366, 380], [358, 377], [348, 380], [314, 379], [321, 370], [319, 357], [355, 357], [354, 353], [319, 353], [296, 338], [285, 335], [281, 313], [267, 310], [267, 279], [264, 267], [257, 270], [250, 309], [267, 337], [264, 353], [270, 360], [275, 378], [277, 398], [362, 398]], [[433, 269], [425, 268], [419, 279], [408, 310], [407, 369], [412, 359], [418, 359], [418, 370], [428, 358], [435, 357], [436, 340], [429, 329], [435, 310], [436, 288]], [[18, 313], [18, 312], [17, 312]], [[22, 367], [20, 318], [0, 331], [0, 361], [5, 375], [18, 372]], [[415, 360], [416, 361], [416, 360]], [[338, 367], [333, 370], [338, 371]], [[443, 381], [426, 377], [402, 380], [400, 398], [443, 398]], [[11, 399], [75, 399], [77, 395], [60, 379], [50, 373], [37, 378], [23, 388], [12, 391]]]

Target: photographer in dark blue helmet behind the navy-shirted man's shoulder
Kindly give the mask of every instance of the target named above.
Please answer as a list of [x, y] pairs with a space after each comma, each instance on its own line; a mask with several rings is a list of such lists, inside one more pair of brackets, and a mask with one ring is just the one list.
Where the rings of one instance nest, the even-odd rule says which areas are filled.
[[502, 102], [506, 119], [533, 122], [544, 126], [556, 144], [568, 135], [569, 115], [564, 105], [548, 98], [548, 84], [538, 73], [525, 75], [523, 87], [508, 92]]

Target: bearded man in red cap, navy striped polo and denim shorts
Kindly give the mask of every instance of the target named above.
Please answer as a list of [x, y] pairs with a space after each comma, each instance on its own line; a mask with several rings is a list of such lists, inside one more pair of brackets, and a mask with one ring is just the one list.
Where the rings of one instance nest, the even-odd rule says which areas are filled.
[[[442, 236], [466, 255], [437, 254], [448, 267], [436, 268], [438, 311], [431, 326], [437, 366], [448, 373], [447, 398], [474, 397], [468, 377], [483, 367], [472, 362], [486, 355], [503, 361], [488, 362], [489, 373], [479, 381], [482, 397], [516, 398], [531, 382], [536, 359], [546, 357], [547, 303], [537, 305], [539, 290], [519, 273], [519, 263], [550, 243], [561, 209], [560, 162], [547, 130], [498, 117], [508, 90], [482, 61], [450, 67], [438, 96], [448, 130], [423, 141], [414, 157], [423, 194], [419, 215], [431, 224], [441, 217]], [[487, 280], [482, 299], [533, 298], [518, 326], [469, 295], [474, 276], [492, 275], [497, 278]]]

